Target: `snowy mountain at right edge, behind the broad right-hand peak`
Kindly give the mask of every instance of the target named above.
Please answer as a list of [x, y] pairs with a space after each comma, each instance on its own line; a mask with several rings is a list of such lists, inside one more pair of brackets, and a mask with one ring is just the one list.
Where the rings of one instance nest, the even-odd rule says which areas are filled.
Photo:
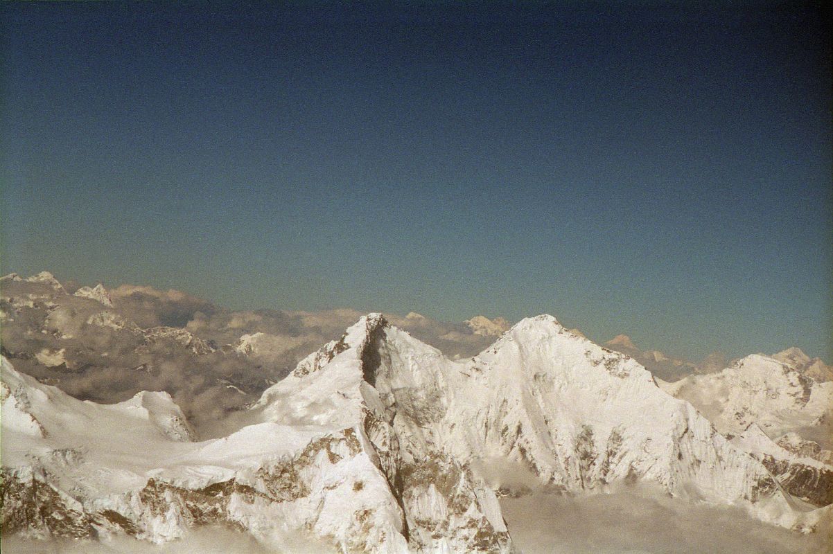
[[833, 382], [816, 381], [806, 371], [820, 364], [794, 348], [774, 356], [752, 354], [719, 373], [658, 383], [761, 460], [787, 492], [826, 506], [833, 502], [833, 453], [796, 434], [830, 438]]

